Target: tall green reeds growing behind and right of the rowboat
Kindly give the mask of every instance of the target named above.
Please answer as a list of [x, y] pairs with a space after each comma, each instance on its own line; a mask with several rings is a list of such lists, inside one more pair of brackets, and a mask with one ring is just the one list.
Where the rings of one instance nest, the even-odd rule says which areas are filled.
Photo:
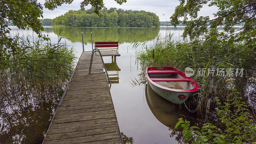
[[[248, 80], [250, 77], [255, 77], [255, 52], [243, 47], [242, 43], [233, 45], [218, 44], [210, 40], [175, 40], [172, 34], [161, 37], [159, 35], [156, 40], [149, 46], [146, 43], [140, 44], [133, 42], [133, 48], [141, 45], [142, 50], [136, 53], [136, 61], [140, 65], [141, 73], [140, 82], [145, 83], [145, 68], [152, 65], [152, 52], [155, 49], [154, 66], [171, 66], [185, 71], [185, 68], [190, 67], [194, 70], [205, 68], [205, 75], [199, 76], [195, 73], [194, 78], [200, 85], [200, 91], [195, 93], [188, 100], [190, 107], [196, 107], [197, 101], [202, 101], [199, 112], [205, 109], [207, 102], [207, 93], [209, 80], [207, 77], [208, 69], [211, 69], [213, 57], [217, 57], [216, 68], [244, 68], [243, 76], [215, 76], [213, 84], [213, 97], [219, 97], [224, 100], [232, 99], [229, 95], [233, 88], [237, 89], [243, 101], [253, 102], [252, 94], [256, 90], [256, 84], [253, 80]], [[217, 71], [215, 71], [216, 75]], [[234, 72], [235, 74], [235, 72]], [[232, 81], [234, 78], [235, 81]], [[231, 79], [231, 81], [229, 81]], [[212, 108], [216, 105], [213, 102]]]

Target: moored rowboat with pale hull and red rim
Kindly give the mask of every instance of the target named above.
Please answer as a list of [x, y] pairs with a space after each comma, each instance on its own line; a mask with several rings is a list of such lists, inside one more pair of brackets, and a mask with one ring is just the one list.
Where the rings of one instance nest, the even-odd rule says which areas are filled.
[[199, 89], [196, 81], [174, 67], [147, 67], [146, 77], [154, 92], [175, 104], [184, 103]]

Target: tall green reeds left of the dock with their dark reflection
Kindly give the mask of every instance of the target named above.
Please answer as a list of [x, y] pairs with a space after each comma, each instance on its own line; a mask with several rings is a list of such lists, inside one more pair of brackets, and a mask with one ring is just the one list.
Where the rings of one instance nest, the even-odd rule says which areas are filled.
[[62, 37], [13, 39], [17, 52], [0, 71], [0, 143], [41, 143], [76, 57]]

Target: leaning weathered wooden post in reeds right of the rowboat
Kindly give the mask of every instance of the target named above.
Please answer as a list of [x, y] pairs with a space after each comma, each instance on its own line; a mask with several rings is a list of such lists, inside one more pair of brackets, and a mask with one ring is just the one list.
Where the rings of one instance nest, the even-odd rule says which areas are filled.
[[210, 76], [211, 80], [210, 80], [209, 94], [208, 94], [208, 98], [207, 98], [207, 106], [206, 106], [206, 113], [205, 113], [205, 119], [204, 119], [205, 124], [208, 122], [209, 110], [210, 110], [210, 105], [211, 105], [211, 100], [212, 100], [212, 85], [213, 85], [216, 60], [217, 60], [217, 58], [213, 57], [213, 64], [212, 64], [213, 74]]

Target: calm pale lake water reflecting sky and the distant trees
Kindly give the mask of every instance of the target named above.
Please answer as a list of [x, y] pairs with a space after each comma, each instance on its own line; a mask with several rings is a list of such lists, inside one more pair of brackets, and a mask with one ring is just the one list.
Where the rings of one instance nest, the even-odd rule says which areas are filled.
[[[28, 36], [35, 38], [36, 34], [31, 30], [19, 30], [16, 27], [12, 28], [11, 35], [14, 36], [20, 33], [20, 36]], [[53, 43], [57, 42], [60, 28], [45, 27], [43, 33], [48, 34]], [[106, 63], [108, 74], [111, 75], [112, 86], [110, 89], [112, 100], [114, 103], [117, 121], [120, 132], [123, 132], [127, 137], [132, 137], [134, 143], [182, 143], [182, 131], [174, 130], [178, 118], [186, 118], [192, 124], [200, 124], [200, 119], [194, 113], [188, 113], [188, 110], [183, 105], [175, 105], [164, 100], [157, 95], [149, 85], [140, 83], [138, 74], [141, 73], [140, 66], [136, 64], [136, 52], [141, 50], [138, 46], [136, 49], [132, 48], [132, 42], [138, 41], [140, 43], [147, 42], [148, 45], [153, 44], [156, 37], [160, 34], [162, 37], [166, 34], [173, 33], [174, 39], [182, 39], [180, 36], [184, 31], [183, 27], [173, 28], [64, 28], [61, 36], [67, 45], [73, 46], [76, 50], [76, 56], [80, 57], [83, 51], [81, 32], [84, 35], [84, 49], [85, 51], [92, 50], [91, 32], [93, 43], [95, 41], [118, 41], [120, 46], [118, 48], [120, 57], [116, 58], [116, 64], [111, 57], [103, 57]], [[117, 66], [116, 66], [117, 65]], [[137, 81], [138, 80], [138, 81]], [[51, 105], [56, 105], [51, 103]], [[52, 110], [56, 108], [51, 106]], [[2, 108], [1, 108], [2, 109]], [[47, 117], [48, 116], [48, 117]], [[186, 116], [186, 117], [184, 117]], [[49, 124], [51, 115], [44, 117], [45, 123]], [[44, 120], [39, 121], [44, 123]], [[2, 121], [1, 121], [2, 122]], [[36, 123], [36, 122], [34, 122]], [[49, 125], [41, 125], [42, 127], [36, 129], [43, 129], [47, 131]], [[3, 125], [3, 124], [1, 124]], [[48, 126], [48, 127], [47, 127]], [[33, 128], [30, 127], [25, 137], [32, 137], [35, 135]], [[37, 131], [37, 130], [35, 130]], [[42, 133], [40, 137], [33, 136], [37, 141], [28, 139], [25, 142], [40, 142], [42, 140]], [[4, 139], [13, 139], [13, 136], [19, 135], [19, 131], [8, 132], [1, 130], [1, 132], [9, 133], [10, 137]], [[2, 137], [3, 138], [3, 137]], [[1, 137], [0, 137], [1, 139]], [[24, 140], [24, 139], [23, 139]], [[4, 142], [4, 140], [3, 140]], [[1, 143], [1, 140], [0, 140]]]

